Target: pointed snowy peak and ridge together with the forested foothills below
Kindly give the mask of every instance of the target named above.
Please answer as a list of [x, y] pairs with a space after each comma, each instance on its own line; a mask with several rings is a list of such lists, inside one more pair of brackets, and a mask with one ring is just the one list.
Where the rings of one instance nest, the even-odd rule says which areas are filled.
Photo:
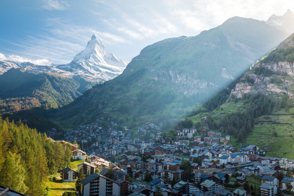
[[93, 85], [118, 76], [126, 64], [95, 34], [69, 64], [50, 67], [0, 60], [0, 111], [61, 107]]

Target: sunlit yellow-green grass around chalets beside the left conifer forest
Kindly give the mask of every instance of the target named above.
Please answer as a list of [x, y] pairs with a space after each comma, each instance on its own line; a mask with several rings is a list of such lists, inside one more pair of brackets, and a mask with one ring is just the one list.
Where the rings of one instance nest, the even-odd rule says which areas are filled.
[[[78, 164], [84, 162], [83, 160], [77, 160], [77, 161], [72, 161], [71, 162], [71, 167], [75, 170], [78, 169]], [[63, 192], [65, 191], [75, 191], [75, 182], [63, 182], [61, 179], [59, 180], [54, 180], [54, 181], [49, 181], [50, 178], [53, 179], [53, 177], [59, 176], [60, 173], [56, 173], [53, 175], [49, 175], [48, 179], [46, 182], [44, 182], [45, 188], [48, 186], [49, 191], [48, 195], [49, 196], [54, 196], [54, 195], [62, 195]]]

